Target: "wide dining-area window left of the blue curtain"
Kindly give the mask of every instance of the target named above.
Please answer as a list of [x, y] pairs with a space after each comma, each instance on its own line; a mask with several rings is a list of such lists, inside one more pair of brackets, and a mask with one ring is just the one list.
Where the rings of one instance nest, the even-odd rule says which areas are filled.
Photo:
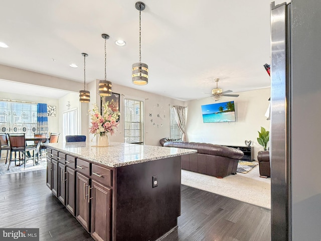
[[0, 133], [26, 133], [26, 137], [33, 137], [36, 129], [36, 103], [0, 101]]

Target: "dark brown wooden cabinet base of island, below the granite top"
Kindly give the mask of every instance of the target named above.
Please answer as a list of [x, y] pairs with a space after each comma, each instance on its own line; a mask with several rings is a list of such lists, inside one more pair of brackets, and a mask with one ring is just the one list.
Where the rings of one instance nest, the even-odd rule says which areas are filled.
[[177, 226], [180, 157], [111, 168], [47, 150], [48, 187], [96, 241], [156, 240]]

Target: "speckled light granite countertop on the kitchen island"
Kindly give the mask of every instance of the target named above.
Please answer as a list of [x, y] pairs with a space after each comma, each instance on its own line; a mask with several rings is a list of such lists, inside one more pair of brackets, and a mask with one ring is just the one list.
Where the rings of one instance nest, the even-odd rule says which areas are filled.
[[192, 149], [117, 142], [109, 143], [109, 147], [96, 147], [94, 142], [48, 143], [44, 145], [113, 168], [197, 152], [197, 150]]

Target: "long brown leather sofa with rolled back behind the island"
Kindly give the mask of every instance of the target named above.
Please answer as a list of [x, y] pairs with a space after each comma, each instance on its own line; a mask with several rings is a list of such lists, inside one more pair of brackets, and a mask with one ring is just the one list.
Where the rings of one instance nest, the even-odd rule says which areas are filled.
[[181, 156], [181, 168], [217, 178], [236, 174], [237, 164], [243, 157], [243, 152], [230, 147], [209, 143], [159, 141], [164, 147], [195, 149], [197, 153]]

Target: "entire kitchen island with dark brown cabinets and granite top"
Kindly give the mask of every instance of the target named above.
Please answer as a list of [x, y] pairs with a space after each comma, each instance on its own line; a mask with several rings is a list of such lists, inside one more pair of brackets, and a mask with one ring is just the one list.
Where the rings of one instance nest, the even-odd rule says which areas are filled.
[[95, 240], [157, 240], [177, 228], [181, 157], [196, 150], [49, 143], [47, 186]]

